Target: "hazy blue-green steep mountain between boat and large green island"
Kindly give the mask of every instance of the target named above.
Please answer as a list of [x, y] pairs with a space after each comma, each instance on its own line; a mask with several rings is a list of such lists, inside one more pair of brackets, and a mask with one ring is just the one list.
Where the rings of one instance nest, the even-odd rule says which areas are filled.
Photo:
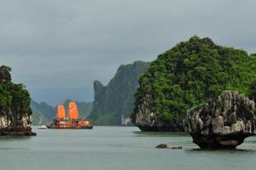
[[93, 111], [89, 116], [94, 125], [121, 125], [122, 115], [130, 117], [139, 75], [147, 70], [149, 64], [137, 61], [120, 66], [107, 86], [94, 82]]

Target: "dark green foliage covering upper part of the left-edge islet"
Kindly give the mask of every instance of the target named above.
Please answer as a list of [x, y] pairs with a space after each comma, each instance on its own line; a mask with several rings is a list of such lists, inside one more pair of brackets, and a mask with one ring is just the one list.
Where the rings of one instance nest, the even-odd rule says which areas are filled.
[[11, 82], [11, 68], [0, 67], [0, 109], [10, 107], [14, 114], [30, 114], [30, 96], [23, 84]]

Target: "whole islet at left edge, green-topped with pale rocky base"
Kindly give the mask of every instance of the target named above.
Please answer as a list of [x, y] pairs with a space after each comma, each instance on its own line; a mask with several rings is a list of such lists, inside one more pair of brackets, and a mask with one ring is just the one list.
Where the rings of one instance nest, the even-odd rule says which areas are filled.
[[0, 67], [0, 135], [35, 135], [30, 127], [29, 93], [24, 85], [11, 82], [10, 71]]

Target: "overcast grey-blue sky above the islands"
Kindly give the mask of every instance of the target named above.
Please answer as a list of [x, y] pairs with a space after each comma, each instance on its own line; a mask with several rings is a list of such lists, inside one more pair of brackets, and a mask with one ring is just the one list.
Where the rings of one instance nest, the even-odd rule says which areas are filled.
[[193, 35], [256, 53], [254, 0], [0, 0], [0, 65], [31, 98], [93, 101], [122, 64]]

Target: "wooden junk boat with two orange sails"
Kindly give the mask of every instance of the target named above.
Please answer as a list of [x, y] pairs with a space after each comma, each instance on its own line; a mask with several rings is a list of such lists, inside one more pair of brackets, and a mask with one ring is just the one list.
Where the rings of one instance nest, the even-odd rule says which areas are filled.
[[47, 125], [49, 129], [93, 129], [90, 119], [78, 119], [78, 109], [75, 102], [69, 103], [68, 117], [65, 114], [65, 107], [58, 105], [56, 118], [53, 123]]

